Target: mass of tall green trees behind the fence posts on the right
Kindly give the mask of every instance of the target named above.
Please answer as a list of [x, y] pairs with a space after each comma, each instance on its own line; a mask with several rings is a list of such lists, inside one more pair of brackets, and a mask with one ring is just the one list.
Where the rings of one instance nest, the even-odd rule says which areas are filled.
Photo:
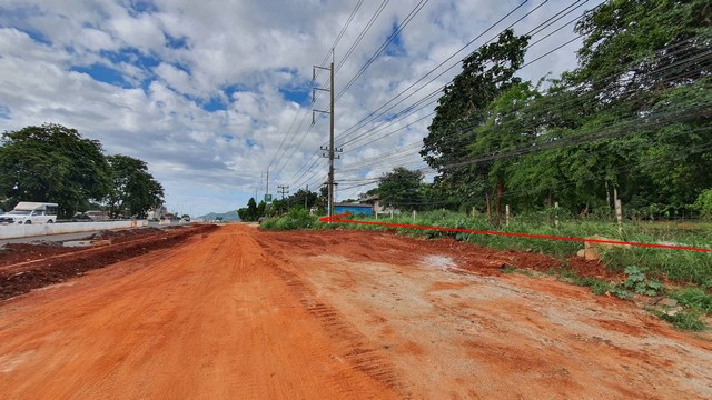
[[712, 188], [709, 14], [701, 0], [607, 1], [576, 24], [578, 67], [540, 84], [516, 77], [528, 38], [479, 48], [424, 139], [434, 207], [492, 209], [495, 222], [503, 203], [606, 214], [615, 192], [629, 214], [694, 210]]

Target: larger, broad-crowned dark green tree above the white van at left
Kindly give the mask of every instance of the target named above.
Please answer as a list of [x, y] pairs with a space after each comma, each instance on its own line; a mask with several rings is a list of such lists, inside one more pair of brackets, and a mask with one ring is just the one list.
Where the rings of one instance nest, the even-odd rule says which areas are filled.
[[4, 208], [19, 201], [57, 202], [70, 218], [80, 204], [98, 201], [111, 186], [109, 166], [97, 140], [48, 123], [6, 132], [0, 147], [0, 197]]

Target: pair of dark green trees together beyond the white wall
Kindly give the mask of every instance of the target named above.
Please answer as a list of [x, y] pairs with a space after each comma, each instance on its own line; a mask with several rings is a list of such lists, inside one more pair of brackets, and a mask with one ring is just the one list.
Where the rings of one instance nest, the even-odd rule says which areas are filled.
[[144, 216], [162, 202], [162, 188], [144, 161], [118, 162], [129, 159], [106, 157], [98, 140], [55, 123], [6, 132], [0, 146], [0, 203], [11, 209], [19, 201], [57, 202], [62, 218], [90, 204]]

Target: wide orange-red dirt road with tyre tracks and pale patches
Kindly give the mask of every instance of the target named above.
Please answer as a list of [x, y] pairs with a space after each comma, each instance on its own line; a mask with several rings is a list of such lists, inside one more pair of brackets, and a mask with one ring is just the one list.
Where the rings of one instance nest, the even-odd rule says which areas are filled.
[[226, 226], [0, 302], [0, 398], [712, 398], [709, 334], [502, 262]]

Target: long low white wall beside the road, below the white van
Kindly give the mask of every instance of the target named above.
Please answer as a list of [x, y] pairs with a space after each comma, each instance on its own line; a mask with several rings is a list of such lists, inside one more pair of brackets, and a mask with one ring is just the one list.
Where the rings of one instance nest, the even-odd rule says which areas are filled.
[[67, 223], [32, 223], [32, 224], [0, 224], [0, 239], [27, 238], [57, 233], [90, 232], [121, 228], [147, 227], [148, 221], [111, 221], [111, 222], [67, 222]]

